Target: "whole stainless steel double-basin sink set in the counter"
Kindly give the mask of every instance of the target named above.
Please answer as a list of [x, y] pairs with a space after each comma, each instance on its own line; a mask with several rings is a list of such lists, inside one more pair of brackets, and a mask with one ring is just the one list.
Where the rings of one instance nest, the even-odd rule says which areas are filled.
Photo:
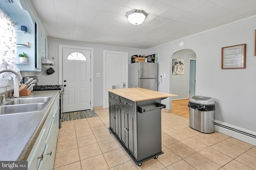
[[44, 111], [50, 97], [7, 99], [0, 105], [0, 116]]

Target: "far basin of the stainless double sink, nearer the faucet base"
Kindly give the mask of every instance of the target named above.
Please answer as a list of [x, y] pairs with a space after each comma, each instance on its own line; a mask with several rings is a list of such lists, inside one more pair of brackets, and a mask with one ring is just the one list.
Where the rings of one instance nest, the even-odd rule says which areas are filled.
[[51, 97], [38, 97], [38, 98], [16, 98], [16, 99], [8, 99], [4, 103], [4, 105], [17, 105], [17, 104], [33, 104], [33, 103], [45, 103]]

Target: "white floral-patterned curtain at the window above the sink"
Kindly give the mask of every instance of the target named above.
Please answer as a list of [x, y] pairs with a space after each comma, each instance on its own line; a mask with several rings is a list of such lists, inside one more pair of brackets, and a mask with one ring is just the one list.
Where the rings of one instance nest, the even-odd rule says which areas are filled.
[[[15, 23], [0, 9], [0, 70], [14, 70], [20, 74], [16, 59], [16, 33]], [[0, 76], [0, 87], [8, 86], [8, 80], [15, 77], [10, 72], [4, 72]]]

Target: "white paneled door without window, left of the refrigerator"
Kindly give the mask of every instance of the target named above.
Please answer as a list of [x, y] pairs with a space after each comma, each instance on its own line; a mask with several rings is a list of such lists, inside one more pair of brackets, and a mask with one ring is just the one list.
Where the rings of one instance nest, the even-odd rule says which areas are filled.
[[108, 90], [128, 88], [128, 53], [104, 51], [106, 56], [105, 102], [108, 108]]

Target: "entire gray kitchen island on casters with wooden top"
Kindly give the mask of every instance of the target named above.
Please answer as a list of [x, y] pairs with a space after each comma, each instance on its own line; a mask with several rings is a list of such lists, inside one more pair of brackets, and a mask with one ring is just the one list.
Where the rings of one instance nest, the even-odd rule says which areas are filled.
[[161, 100], [177, 95], [123, 88], [108, 90], [109, 131], [138, 166], [162, 152]]

